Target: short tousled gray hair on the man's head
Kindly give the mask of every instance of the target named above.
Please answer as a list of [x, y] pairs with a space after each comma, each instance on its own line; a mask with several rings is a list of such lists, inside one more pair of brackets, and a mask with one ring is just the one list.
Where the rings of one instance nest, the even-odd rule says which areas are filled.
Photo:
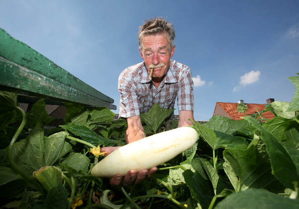
[[174, 44], [175, 32], [171, 23], [167, 22], [162, 17], [154, 17], [149, 20], [145, 20], [145, 23], [140, 26], [138, 32], [139, 49], [143, 50], [142, 39], [147, 35], [154, 35], [166, 32], [170, 49]]

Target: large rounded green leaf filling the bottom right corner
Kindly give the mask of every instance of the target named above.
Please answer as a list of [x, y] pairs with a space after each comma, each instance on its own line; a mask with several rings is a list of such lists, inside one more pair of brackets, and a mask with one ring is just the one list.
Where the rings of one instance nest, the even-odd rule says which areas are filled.
[[298, 209], [299, 201], [275, 195], [264, 189], [249, 189], [233, 193], [215, 209]]

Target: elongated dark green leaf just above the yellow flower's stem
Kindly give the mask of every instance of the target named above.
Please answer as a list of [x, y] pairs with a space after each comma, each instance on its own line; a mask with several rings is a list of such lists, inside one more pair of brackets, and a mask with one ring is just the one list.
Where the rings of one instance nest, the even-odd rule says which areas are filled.
[[60, 127], [72, 132], [76, 136], [80, 136], [82, 140], [89, 142], [95, 146], [108, 146], [114, 144], [113, 140], [109, 140], [99, 136], [96, 132], [90, 130], [88, 127], [84, 125], [69, 124], [60, 125]]

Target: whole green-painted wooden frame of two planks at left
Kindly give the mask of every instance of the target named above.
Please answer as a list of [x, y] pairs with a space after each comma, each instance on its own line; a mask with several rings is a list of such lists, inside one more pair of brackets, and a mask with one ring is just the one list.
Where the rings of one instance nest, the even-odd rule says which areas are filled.
[[116, 109], [114, 100], [0, 28], [0, 90]]

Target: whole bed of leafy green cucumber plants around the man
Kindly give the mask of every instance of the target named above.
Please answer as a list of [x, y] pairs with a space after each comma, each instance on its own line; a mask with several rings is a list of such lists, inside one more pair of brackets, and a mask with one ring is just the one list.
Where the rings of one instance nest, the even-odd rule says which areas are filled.
[[[0, 92], [0, 197], [3, 208], [299, 208], [299, 76], [292, 103], [274, 102], [235, 121], [216, 115], [193, 122], [196, 144], [158, 166], [150, 179], [112, 188], [93, 177], [91, 148], [125, 144], [127, 122], [104, 107], [66, 104], [64, 124], [43, 100], [30, 113]], [[238, 111], [245, 111], [239, 106]], [[276, 116], [267, 120], [264, 111]], [[175, 128], [172, 110], [155, 104], [141, 115], [147, 135]], [[166, 122], [167, 121], [167, 122]]]

